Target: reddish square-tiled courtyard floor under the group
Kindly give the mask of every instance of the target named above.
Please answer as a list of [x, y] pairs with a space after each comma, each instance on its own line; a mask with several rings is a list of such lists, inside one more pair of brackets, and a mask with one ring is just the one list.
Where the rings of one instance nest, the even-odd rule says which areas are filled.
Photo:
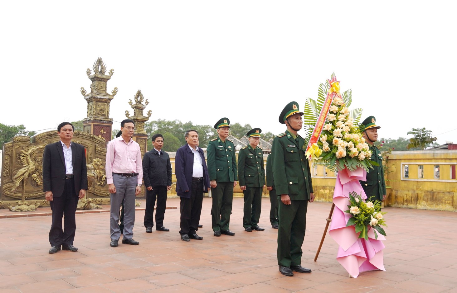
[[[145, 233], [144, 202], [136, 213], [138, 246], [109, 246], [109, 213], [76, 215], [77, 252], [48, 254], [49, 208], [32, 213], [0, 210], [1, 293], [136, 293], [136, 292], [448, 292], [457, 293], [457, 213], [386, 208], [386, 272], [364, 272], [350, 278], [336, 261], [338, 247], [328, 235], [317, 262], [314, 256], [328, 216], [329, 203], [308, 207], [302, 265], [311, 274], [285, 277], [276, 262], [276, 232], [268, 220], [270, 202], [262, 199], [260, 226], [245, 232], [243, 199], [234, 198], [230, 230], [235, 236], [214, 237], [211, 199], [203, 200], [202, 241], [180, 240], [179, 209], [167, 209], [170, 232]], [[179, 199], [168, 199], [179, 207]], [[103, 211], [109, 206], [103, 206]], [[93, 212], [93, 211], [90, 211]], [[22, 217], [11, 217], [11, 215]], [[27, 217], [24, 217], [27, 215]]]

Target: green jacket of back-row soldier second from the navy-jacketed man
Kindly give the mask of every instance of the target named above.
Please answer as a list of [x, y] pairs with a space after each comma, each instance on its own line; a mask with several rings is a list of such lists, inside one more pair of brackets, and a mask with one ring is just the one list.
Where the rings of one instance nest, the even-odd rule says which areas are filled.
[[253, 149], [250, 145], [238, 153], [239, 186], [263, 187], [265, 185], [265, 167], [263, 151], [260, 147]]

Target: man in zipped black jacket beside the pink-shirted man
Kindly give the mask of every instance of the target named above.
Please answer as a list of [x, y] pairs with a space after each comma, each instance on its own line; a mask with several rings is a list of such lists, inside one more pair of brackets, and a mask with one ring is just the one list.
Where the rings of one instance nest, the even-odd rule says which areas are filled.
[[154, 148], [145, 153], [143, 157], [143, 180], [147, 189], [143, 224], [148, 233], [152, 233], [152, 227], [154, 227], [153, 215], [156, 197], [155, 230], [170, 231], [164, 227], [167, 191], [171, 188], [170, 156], [162, 151], [164, 136], [156, 133], [151, 140]]

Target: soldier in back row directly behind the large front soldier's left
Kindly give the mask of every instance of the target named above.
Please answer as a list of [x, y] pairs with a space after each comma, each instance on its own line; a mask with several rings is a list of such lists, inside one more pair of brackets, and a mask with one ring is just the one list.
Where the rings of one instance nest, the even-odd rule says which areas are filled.
[[249, 144], [238, 153], [239, 188], [244, 194], [243, 227], [246, 232], [263, 231], [260, 228], [260, 210], [262, 209], [262, 191], [265, 186], [265, 168], [263, 167], [263, 151], [259, 147], [260, 128], [246, 133]]

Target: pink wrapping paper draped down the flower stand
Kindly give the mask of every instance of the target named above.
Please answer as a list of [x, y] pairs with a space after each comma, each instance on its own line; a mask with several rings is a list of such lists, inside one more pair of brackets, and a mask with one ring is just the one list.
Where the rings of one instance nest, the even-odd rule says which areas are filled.
[[347, 207], [350, 205], [349, 194], [355, 191], [361, 194], [362, 199], [367, 199], [359, 182], [359, 180], [365, 181], [366, 178], [367, 171], [362, 168], [357, 168], [356, 171], [344, 169], [338, 172], [333, 194], [335, 209], [330, 222], [329, 235], [340, 246], [336, 260], [352, 277], [357, 277], [361, 272], [386, 270], [383, 261], [385, 237], [377, 233], [376, 240], [373, 229], [369, 228], [368, 241], [366, 241], [358, 238], [359, 233], [356, 233], [354, 226], [346, 227], [347, 221], [351, 218], [350, 214], [344, 212], [349, 209]]

